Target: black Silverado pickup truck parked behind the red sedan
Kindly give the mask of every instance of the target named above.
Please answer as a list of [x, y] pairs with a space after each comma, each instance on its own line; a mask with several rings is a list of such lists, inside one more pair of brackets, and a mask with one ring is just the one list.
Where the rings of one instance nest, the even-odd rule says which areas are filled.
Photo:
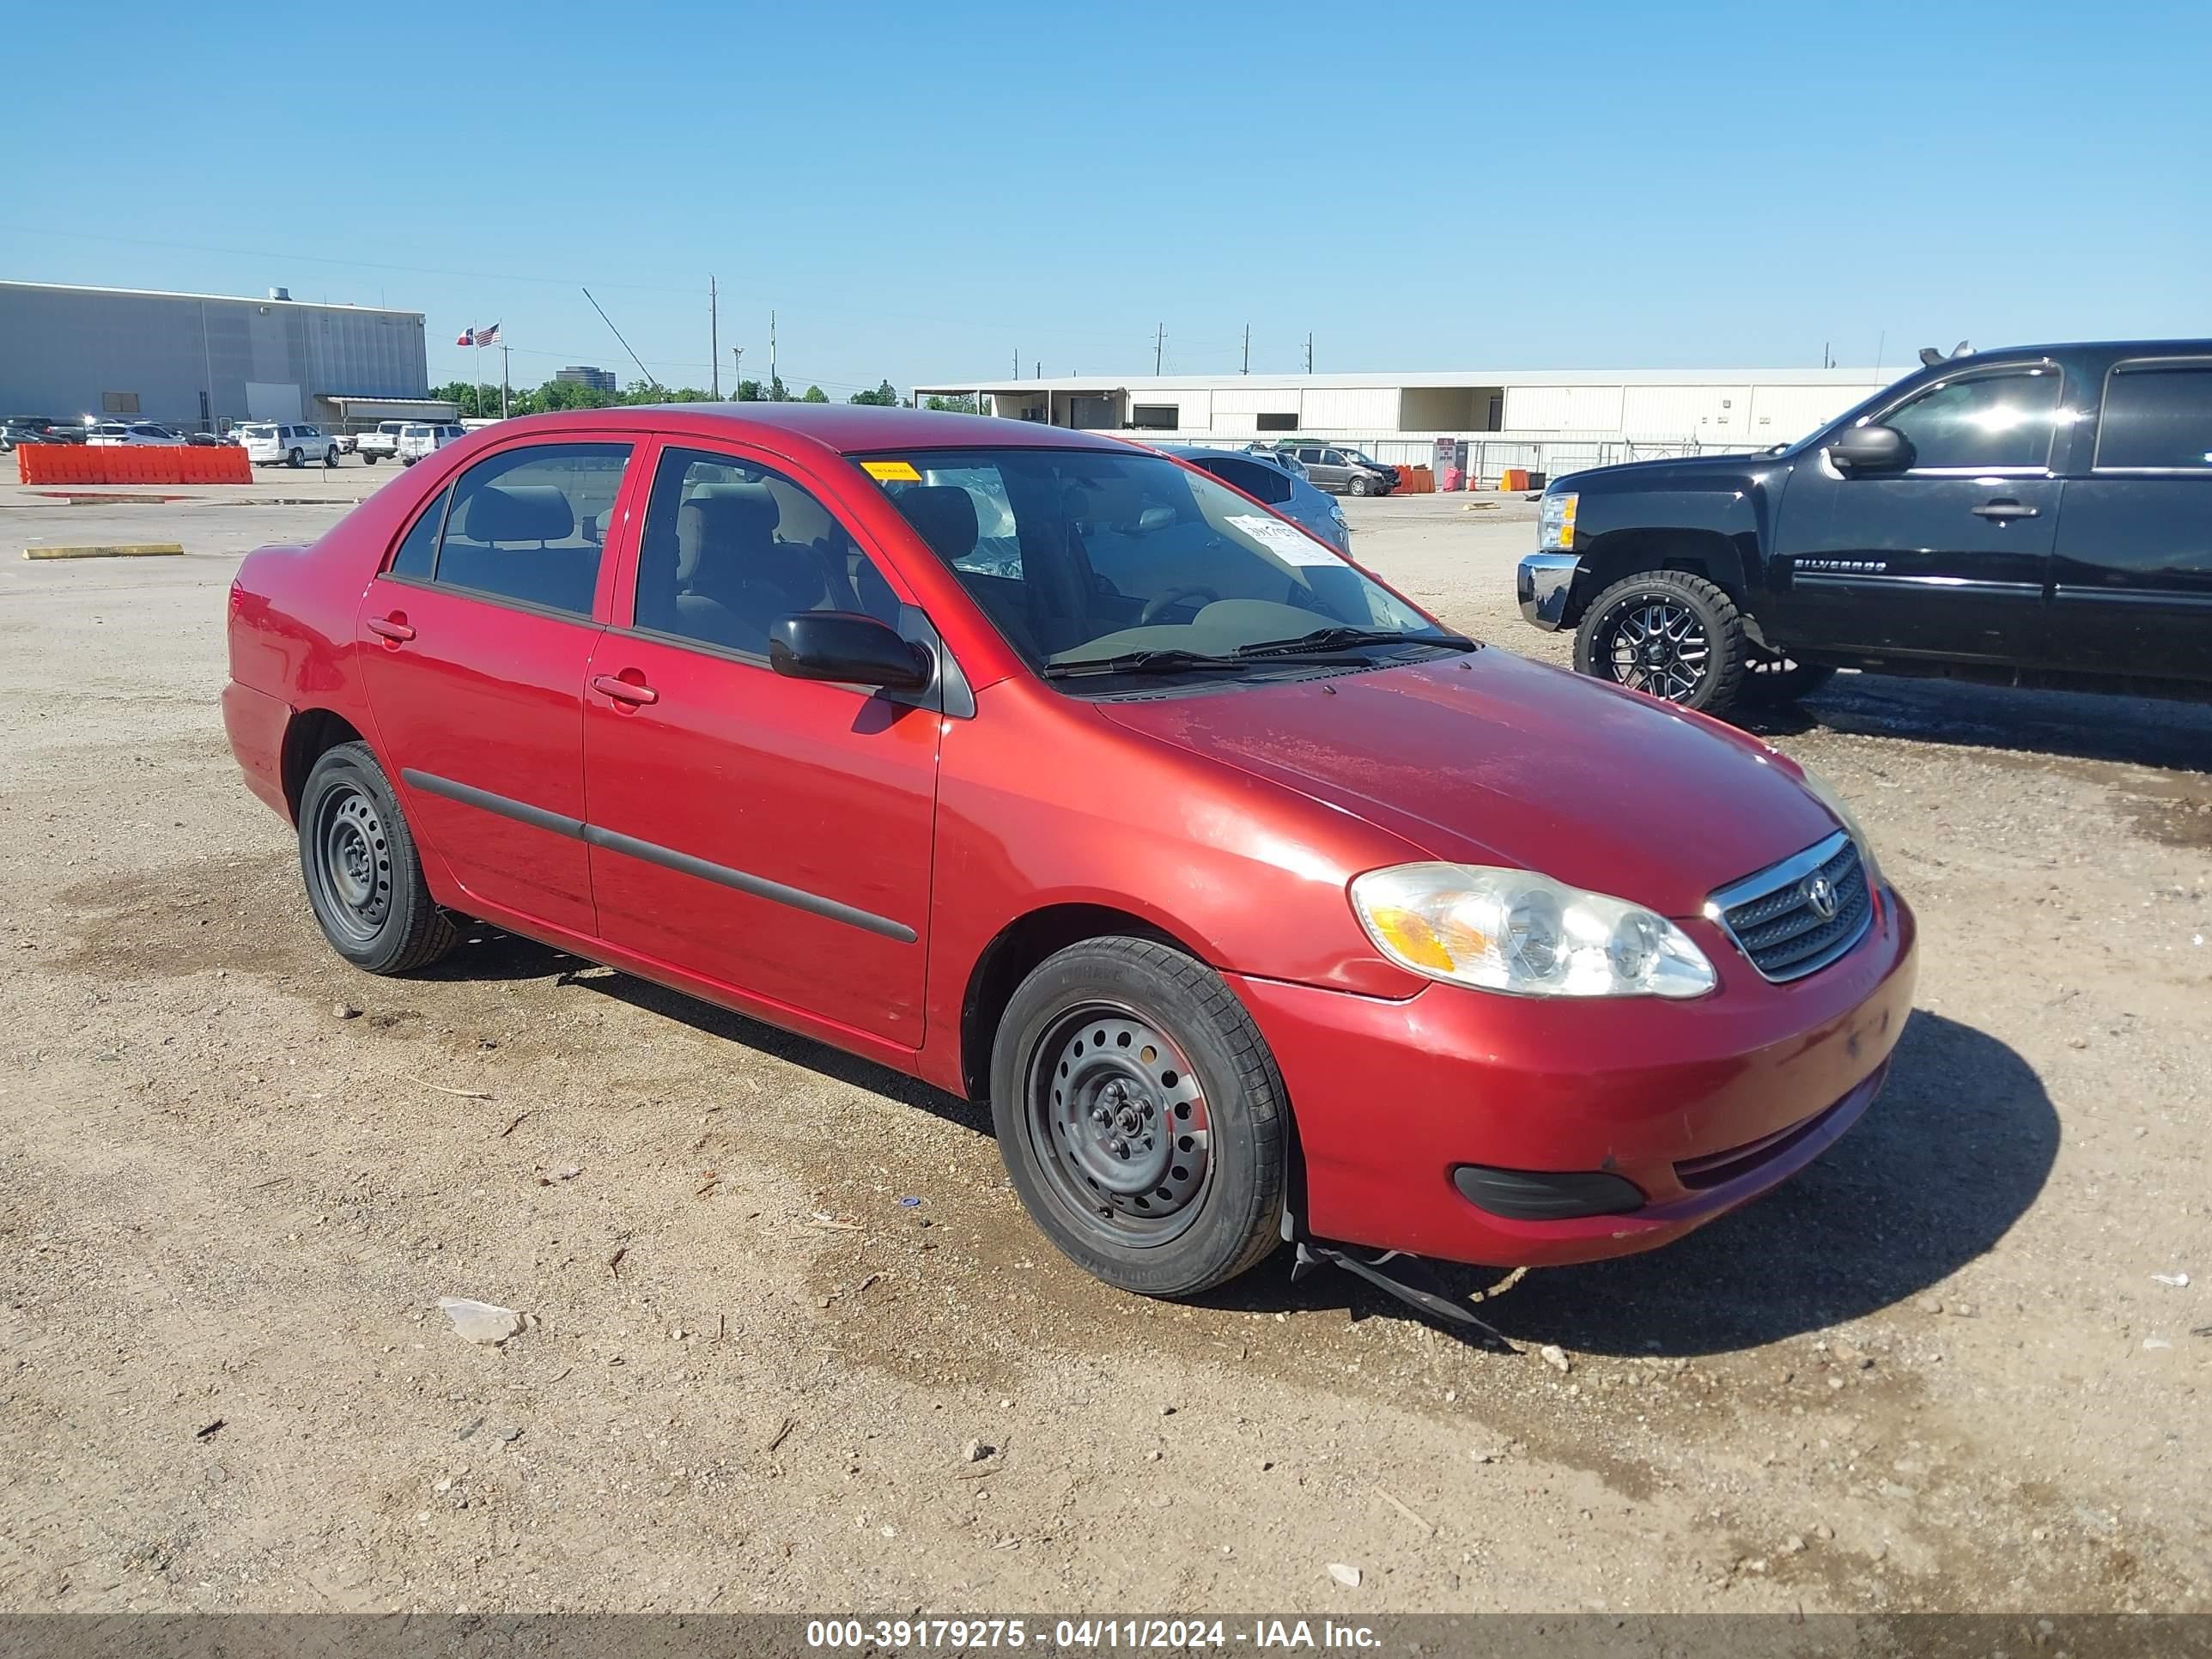
[[2212, 699], [2212, 341], [1931, 363], [1794, 445], [1544, 491], [1522, 615], [1723, 714], [1836, 668]]

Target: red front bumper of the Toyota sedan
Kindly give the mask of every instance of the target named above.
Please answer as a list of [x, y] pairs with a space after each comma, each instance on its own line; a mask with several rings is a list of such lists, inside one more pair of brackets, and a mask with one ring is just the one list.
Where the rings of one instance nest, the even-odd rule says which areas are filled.
[[[1383, 998], [1230, 975], [1290, 1086], [1307, 1232], [1498, 1267], [1650, 1250], [1787, 1181], [1865, 1115], [1913, 998], [1913, 916], [1882, 891], [1834, 964], [1770, 984], [1703, 920], [1694, 1002]], [[1619, 1177], [1608, 1214], [1498, 1214], [1486, 1172]], [[1593, 1183], [1595, 1186], [1595, 1183]], [[1511, 1208], [1511, 1206], [1509, 1206]]]

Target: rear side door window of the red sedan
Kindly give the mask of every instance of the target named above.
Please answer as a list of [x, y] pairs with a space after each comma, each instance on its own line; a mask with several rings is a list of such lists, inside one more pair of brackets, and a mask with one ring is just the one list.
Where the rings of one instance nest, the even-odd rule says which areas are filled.
[[571, 442], [476, 462], [453, 480], [431, 577], [588, 617], [599, 586], [599, 515], [613, 511], [628, 460], [630, 445]]

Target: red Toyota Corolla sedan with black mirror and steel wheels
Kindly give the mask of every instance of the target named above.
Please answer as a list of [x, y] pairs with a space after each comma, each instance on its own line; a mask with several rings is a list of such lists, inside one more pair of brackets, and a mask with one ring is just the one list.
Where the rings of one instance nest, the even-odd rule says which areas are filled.
[[1763, 743], [1115, 438], [509, 420], [250, 555], [223, 717], [372, 973], [482, 918], [989, 1097], [1099, 1279], [1666, 1243], [1880, 1088], [1913, 920]]

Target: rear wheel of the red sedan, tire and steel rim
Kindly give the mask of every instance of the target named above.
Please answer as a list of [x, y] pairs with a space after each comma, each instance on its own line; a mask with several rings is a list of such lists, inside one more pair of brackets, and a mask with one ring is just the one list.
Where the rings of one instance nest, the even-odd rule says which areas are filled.
[[411, 973], [458, 933], [422, 880], [414, 832], [367, 743], [325, 750], [299, 792], [299, 872], [330, 947], [367, 973]]

